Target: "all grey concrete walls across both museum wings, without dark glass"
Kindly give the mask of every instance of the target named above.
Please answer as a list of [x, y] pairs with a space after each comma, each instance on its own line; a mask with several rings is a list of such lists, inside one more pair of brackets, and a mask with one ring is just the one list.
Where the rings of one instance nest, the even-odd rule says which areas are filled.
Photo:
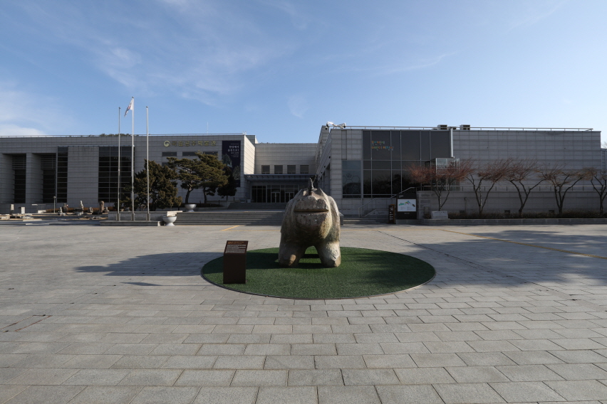
[[[241, 186], [234, 197], [236, 201], [254, 199], [253, 186], [297, 187], [304, 181], [302, 166], [308, 167], [308, 173], [316, 176], [318, 186], [323, 188], [338, 203], [340, 211], [349, 216], [358, 215], [363, 207], [375, 207], [385, 211], [390, 201], [367, 196], [366, 191], [358, 197], [343, 195], [343, 166], [351, 161], [364, 163], [363, 151], [368, 144], [363, 144], [365, 131], [420, 130], [421, 137], [427, 137], [427, 144], [433, 142], [434, 135], [442, 132], [437, 128], [412, 127], [346, 127], [328, 128], [323, 126], [318, 142], [313, 143], [259, 143], [249, 134], [184, 134], [150, 136], [150, 159], [166, 164], [173, 155], [182, 158], [194, 151], [222, 154], [222, 142], [241, 142]], [[129, 146], [131, 137], [121, 137], [121, 144]], [[426, 142], [423, 140], [421, 142]], [[566, 169], [584, 167], [601, 168], [607, 164], [607, 149], [601, 149], [601, 132], [592, 129], [532, 129], [532, 128], [471, 128], [452, 130], [452, 149], [447, 153], [443, 148], [434, 157], [472, 159], [477, 164], [487, 164], [498, 159], [532, 159], [540, 165], [564, 164]], [[118, 146], [118, 137], [28, 137], [0, 138], [0, 209], [6, 211], [9, 203], [14, 203], [14, 176], [11, 168], [13, 156], [26, 156], [26, 200], [21, 205], [38, 204], [44, 206], [42, 198], [41, 156], [56, 154], [58, 147], [68, 147], [68, 204], [78, 206], [83, 201], [85, 206], [97, 206], [99, 147]], [[441, 154], [442, 153], [442, 154]], [[146, 138], [135, 136], [135, 172], [143, 169], [146, 156]], [[430, 159], [420, 156], [421, 164]], [[346, 163], [346, 161], [348, 163]], [[289, 177], [289, 166], [295, 167], [294, 176]], [[360, 188], [363, 188], [364, 164], [360, 164]], [[394, 164], [393, 164], [394, 169]], [[267, 171], [264, 171], [266, 170]], [[365, 166], [365, 169], [368, 167]], [[402, 168], [402, 167], [401, 167]], [[277, 171], [278, 170], [278, 171]], [[129, 169], [130, 171], [130, 169]], [[282, 174], [278, 174], [282, 171]], [[393, 171], [394, 172], [394, 171]], [[404, 173], [401, 171], [401, 173]], [[255, 174], [255, 178], [245, 176]], [[302, 176], [303, 175], [303, 176]], [[404, 175], [404, 174], [403, 174]], [[299, 176], [299, 177], [298, 177]], [[445, 208], [450, 211], [474, 211], [474, 194], [469, 184], [462, 183], [462, 188], [452, 192]], [[259, 187], [258, 187], [259, 188]], [[509, 184], [498, 184], [495, 193], [489, 198], [486, 211], [517, 211], [518, 196]], [[271, 190], [268, 188], [268, 194]], [[278, 192], [278, 191], [276, 191]], [[291, 189], [289, 189], [289, 194]], [[284, 193], [284, 190], [283, 190]], [[180, 195], [185, 191], [180, 188]], [[289, 196], [286, 196], [288, 198]], [[282, 198], [285, 198], [284, 194]], [[425, 197], [424, 197], [425, 198]], [[595, 210], [598, 202], [596, 194], [588, 182], [580, 182], [570, 191], [566, 199], [566, 209]], [[219, 196], [210, 197], [214, 201]], [[426, 198], [425, 198], [426, 199]], [[204, 200], [201, 190], [194, 190], [190, 202]], [[435, 198], [430, 198], [430, 208], [437, 208]], [[113, 205], [114, 201], [105, 201]], [[267, 201], [269, 202], [269, 200]], [[283, 201], [284, 202], [284, 201]], [[16, 206], [21, 206], [16, 204]], [[550, 211], [556, 208], [551, 188], [542, 185], [531, 194], [526, 211]], [[373, 211], [373, 209], [368, 209]]]

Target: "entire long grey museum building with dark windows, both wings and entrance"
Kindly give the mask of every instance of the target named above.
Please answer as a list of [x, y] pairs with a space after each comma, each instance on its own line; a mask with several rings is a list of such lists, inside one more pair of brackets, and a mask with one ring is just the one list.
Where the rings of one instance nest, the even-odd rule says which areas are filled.
[[[120, 142], [120, 145], [119, 145]], [[134, 147], [132, 149], [132, 143]], [[284, 203], [309, 178], [333, 196], [346, 215], [385, 210], [390, 197], [407, 191], [407, 170], [416, 164], [440, 168], [474, 159], [478, 164], [498, 159], [534, 159], [539, 164], [566, 164], [567, 169], [601, 168], [601, 132], [593, 129], [450, 127], [346, 127], [323, 125], [314, 143], [260, 143], [250, 134], [155, 134], [65, 137], [0, 137], [0, 213], [26, 206], [28, 212], [58, 204], [113, 206], [120, 187], [150, 160], [167, 164], [169, 157], [196, 158], [212, 154], [232, 166], [237, 180], [235, 201]], [[148, 151], [149, 150], [149, 151]], [[120, 155], [120, 156], [119, 156]], [[132, 157], [133, 156], [133, 157]], [[120, 161], [120, 167], [118, 166]], [[119, 179], [120, 172], [120, 179]], [[120, 184], [119, 184], [120, 181]], [[517, 208], [513, 188], [496, 189], [487, 208]], [[185, 190], [180, 195], [185, 196]], [[415, 192], [415, 190], [413, 190]], [[544, 186], [530, 200], [530, 210], [546, 210], [554, 196]], [[455, 195], [458, 193], [458, 195]], [[593, 208], [593, 190], [580, 183], [568, 208]], [[420, 203], [435, 208], [429, 193]], [[467, 211], [473, 194], [465, 184], [450, 196], [446, 208]], [[209, 200], [217, 201], [219, 196]], [[204, 200], [201, 190], [190, 203]], [[569, 199], [568, 199], [569, 201]], [[548, 206], [548, 207], [546, 207]], [[251, 206], [252, 207], [252, 206]], [[421, 206], [420, 206], [421, 208]], [[4, 212], [6, 211], [6, 212]]]

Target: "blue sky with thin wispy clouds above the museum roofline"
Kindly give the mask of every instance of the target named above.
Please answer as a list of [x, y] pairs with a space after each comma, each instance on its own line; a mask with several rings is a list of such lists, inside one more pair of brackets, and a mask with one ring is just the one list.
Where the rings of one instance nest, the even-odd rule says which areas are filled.
[[[0, 135], [592, 127], [607, 1], [3, 1]], [[122, 132], [130, 132], [130, 117]]]

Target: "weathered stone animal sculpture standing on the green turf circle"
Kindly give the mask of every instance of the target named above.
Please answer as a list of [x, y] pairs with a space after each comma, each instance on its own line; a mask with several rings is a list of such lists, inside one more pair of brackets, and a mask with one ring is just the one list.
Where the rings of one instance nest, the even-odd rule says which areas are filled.
[[286, 205], [280, 233], [280, 265], [296, 267], [311, 246], [324, 266], [341, 264], [337, 203], [320, 188], [313, 188], [312, 180]]

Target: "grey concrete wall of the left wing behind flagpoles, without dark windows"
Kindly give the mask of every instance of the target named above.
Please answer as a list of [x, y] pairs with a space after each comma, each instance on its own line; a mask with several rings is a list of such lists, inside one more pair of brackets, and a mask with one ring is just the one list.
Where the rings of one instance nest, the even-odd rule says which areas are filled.
[[[241, 141], [242, 166], [241, 178], [244, 174], [253, 174], [254, 167], [254, 137], [244, 134], [200, 134], [200, 135], [155, 135], [149, 138], [150, 160], [166, 163], [165, 152], [174, 152], [178, 159], [185, 157], [184, 152], [216, 152], [222, 154], [222, 141]], [[121, 146], [130, 146], [130, 136], [120, 137]], [[134, 166], [135, 173], [144, 168], [147, 155], [145, 135], [135, 135]], [[41, 181], [42, 172], [40, 156], [56, 154], [58, 147], [68, 147], [68, 205], [98, 206], [98, 170], [99, 148], [118, 147], [118, 137], [115, 136], [83, 136], [83, 137], [2, 137], [0, 138], [0, 207], [6, 211], [10, 203], [14, 203], [14, 175], [12, 171], [12, 156], [26, 155], [26, 201], [14, 203], [16, 207], [37, 204], [38, 209], [51, 208], [53, 203], [42, 203]], [[130, 152], [128, 153], [130, 157]], [[124, 154], [123, 154], [124, 156]], [[129, 167], [130, 171], [130, 167]], [[245, 198], [248, 193], [247, 185], [242, 181], [235, 198]], [[180, 195], [185, 191], [180, 188]], [[192, 191], [191, 201], [204, 199], [202, 191]], [[217, 196], [216, 198], [219, 198]], [[112, 206], [115, 201], [105, 201]]]

